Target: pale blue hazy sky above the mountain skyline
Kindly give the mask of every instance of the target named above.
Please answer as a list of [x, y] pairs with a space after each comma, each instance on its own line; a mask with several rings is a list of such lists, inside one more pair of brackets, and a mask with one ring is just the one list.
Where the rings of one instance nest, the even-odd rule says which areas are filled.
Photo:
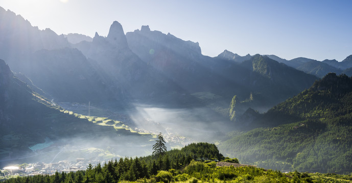
[[0, 6], [57, 34], [107, 36], [151, 30], [199, 42], [202, 53], [275, 54], [342, 61], [352, 54], [352, 1], [0, 0]]

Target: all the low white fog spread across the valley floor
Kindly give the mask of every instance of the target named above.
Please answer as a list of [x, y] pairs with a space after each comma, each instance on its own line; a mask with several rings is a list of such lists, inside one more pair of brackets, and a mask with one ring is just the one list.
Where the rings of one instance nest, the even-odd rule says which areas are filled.
[[[229, 122], [221, 120], [207, 107], [199, 108], [161, 108], [145, 104], [132, 104], [129, 109], [114, 110], [94, 105], [78, 103], [59, 103], [64, 109], [74, 113], [91, 116], [108, 117], [119, 120], [122, 124], [136, 132], [162, 133], [168, 150], [181, 148], [192, 142], [214, 143], [224, 136], [230, 128]], [[92, 123], [92, 122], [89, 122]], [[111, 133], [112, 127], [106, 128], [102, 134], [77, 134], [74, 137], [50, 139], [49, 147], [32, 151], [20, 157], [0, 161], [1, 166], [22, 163], [57, 163], [59, 161], [74, 162], [85, 159], [88, 162], [104, 162], [120, 157], [140, 157], [152, 154], [155, 138], [152, 135], [140, 135], [127, 130]], [[46, 137], [43, 137], [43, 139]]]

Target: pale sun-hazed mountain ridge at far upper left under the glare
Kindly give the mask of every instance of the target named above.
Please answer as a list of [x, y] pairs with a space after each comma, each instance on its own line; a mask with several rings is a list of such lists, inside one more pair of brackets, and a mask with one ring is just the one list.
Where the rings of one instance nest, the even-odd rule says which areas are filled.
[[27, 62], [34, 51], [70, 46], [63, 35], [58, 36], [49, 28], [41, 31], [20, 15], [2, 7], [0, 27], [0, 58], [7, 60], [15, 72], [20, 72], [19, 67]]

